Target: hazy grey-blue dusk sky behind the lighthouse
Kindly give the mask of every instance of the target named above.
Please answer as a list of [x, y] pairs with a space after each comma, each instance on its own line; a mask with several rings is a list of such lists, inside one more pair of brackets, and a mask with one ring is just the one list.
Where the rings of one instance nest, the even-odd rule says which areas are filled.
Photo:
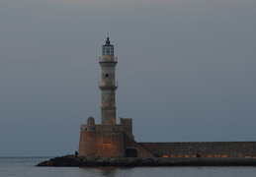
[[0, 156], [74, 153], [101, 47], [137, 142], [256, 141], [255, 0], [1, 0]]

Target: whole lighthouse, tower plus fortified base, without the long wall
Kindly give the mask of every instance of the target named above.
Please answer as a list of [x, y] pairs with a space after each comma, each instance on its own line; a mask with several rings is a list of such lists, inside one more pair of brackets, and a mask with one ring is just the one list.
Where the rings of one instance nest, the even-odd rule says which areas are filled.
[[78, 154], [94, 157], [144, 157], [152, 156], [139, 146], [132, 135], [132, 119], [120, 118], [117, 124], [115, 69], [117, 58], [110, 38], [102, 46], [101, 66], [101, 124], [96, 124], [93, 117], [87, 118], [87, 124], [80, 126]]

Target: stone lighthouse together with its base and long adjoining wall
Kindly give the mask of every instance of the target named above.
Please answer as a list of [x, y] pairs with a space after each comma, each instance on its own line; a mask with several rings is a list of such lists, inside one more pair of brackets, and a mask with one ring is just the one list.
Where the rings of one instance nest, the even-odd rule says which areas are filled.
[[[107, 37], [106, 44], [102, 46], [102, 56], [99, 61], [101, 66], [99, 88], [102, 96], [101, 124], [97, 124], [94, 117], [90, 116], [87, 118], [87, 124], [80, 126], [79, 156], [93, 157], [92, 159], [95, 160], [105, 158], [115, 165], [119, 165], [121, 158], [124, 157], [195, 157], [199, 152], [202, 156], [211, 157], [256, 156], [256, 142], [137, 143], [132, 134], [132, 119], [121, 117], [120, 124], [116, 121], [116, 89], [118, 87], [115, 69], [117, 63], [114, 45]], [[87, 160], [83, 161], [87, 162]], [[104, 161], [100, 163], [105, 164]], [[107, 164], [109, 162], [106, 161]]]

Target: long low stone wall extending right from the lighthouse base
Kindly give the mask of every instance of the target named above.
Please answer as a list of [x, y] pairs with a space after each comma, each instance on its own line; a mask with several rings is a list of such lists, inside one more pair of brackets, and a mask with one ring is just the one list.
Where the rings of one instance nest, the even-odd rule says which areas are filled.
[[158, 157], [256, 157], [256, 142], [138, 143]]

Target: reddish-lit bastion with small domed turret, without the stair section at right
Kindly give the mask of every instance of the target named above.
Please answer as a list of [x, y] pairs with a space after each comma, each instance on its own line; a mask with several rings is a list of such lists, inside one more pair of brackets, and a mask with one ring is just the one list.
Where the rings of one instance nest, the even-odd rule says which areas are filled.
[[93, 117], [80, 127], [79, 155], [124, 157], [124, 130], [121, 125], [96, 125]]

